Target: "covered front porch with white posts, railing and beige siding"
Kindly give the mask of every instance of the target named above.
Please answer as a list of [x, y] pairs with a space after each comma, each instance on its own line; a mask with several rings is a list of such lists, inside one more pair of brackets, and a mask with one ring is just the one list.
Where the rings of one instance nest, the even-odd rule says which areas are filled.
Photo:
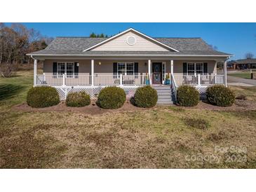
[[34, 86], [227, 85], [226, 65], [217, 74], [215, 60], [45, 60], [43, 74], [37, 74], [34, 60]]

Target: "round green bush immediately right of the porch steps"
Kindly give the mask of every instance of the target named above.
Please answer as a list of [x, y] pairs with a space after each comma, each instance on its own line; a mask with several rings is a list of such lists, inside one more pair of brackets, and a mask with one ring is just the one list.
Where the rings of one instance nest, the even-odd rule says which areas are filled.
[[196, 88], [189, 85], [181, 85], [177, 88], [177, 104], [184, 107], [193, 107], [198, 104], [200, 94]]

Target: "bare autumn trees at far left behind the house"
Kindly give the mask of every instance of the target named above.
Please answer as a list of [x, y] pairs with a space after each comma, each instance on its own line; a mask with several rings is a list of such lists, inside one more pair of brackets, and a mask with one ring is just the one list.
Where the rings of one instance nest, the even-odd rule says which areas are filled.
[[0, 22], [0, 73], [7, 77], [19, 64], [32, 63], [26, 54], [46, 48], [53, 38], [43, 36], [35, 29], [20, 23], [6, 26]]

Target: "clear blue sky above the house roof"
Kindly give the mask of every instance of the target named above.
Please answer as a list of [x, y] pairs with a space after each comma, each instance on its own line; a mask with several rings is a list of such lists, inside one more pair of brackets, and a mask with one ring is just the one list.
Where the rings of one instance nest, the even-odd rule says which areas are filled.
[[256, 23], [23, 23], [46, 36], [88, 36], [91, 32], [117, 34], [129, 27], [152, 37], [201, 37], [217, 50], [243, 58], [256, 57]]

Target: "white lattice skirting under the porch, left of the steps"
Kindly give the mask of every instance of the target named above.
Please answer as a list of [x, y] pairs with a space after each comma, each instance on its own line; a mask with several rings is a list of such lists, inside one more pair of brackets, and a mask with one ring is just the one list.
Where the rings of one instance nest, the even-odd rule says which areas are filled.
[[[102, 90], [104, 87], [55, 87], [56, 90], [58, 91], [59, 95], [60, 95], [60, 100], [66, 100], [67, 98], [67, 94], [69, 94], [69, 92], [79, 92], [79, 91], [84, 91], [86, 92], [88, 95], [90, 95], [90, 99], [95, 100], [97, 99], [97, 95], [100, 93], [100, 90]], [[126, 92], [126, 97], [130, 98], [133, 97], [133, 95], [135, 94], [135, 91], [137, 89], [137, 87], [126, 87], [123, 86], [121, 87], [123, 88], [123, 90], [125, 90]]]

